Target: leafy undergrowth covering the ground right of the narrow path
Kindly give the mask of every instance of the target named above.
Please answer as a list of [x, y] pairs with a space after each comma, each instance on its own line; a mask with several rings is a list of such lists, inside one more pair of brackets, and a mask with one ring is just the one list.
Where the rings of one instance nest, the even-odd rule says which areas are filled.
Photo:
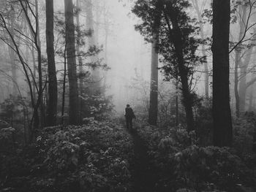
[[242, 159], [230, 148], [200, 147], [195, 131], [181, 126], [145, 126], [138, 132], [158, 167], [158, 191], [241, 191], [256, 183], [253, 156]]

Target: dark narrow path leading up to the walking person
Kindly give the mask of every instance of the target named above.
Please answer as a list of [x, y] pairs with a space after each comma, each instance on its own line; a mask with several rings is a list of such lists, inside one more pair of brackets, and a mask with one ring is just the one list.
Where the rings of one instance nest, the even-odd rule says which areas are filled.
[[135, 129], [129, 130], [129, 134], [132, 136], [135, 146], [135, 161], [132, 162], [134, 192], [154, 192], [157, 173], [148, 156], [148, 147], [146, 147]]

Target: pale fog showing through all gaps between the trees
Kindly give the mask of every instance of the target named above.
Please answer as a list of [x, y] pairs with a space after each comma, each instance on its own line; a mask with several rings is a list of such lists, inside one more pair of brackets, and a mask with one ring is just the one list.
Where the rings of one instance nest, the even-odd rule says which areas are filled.
[[[92, 1], [93, 7], [93, 20], [94, 30], [97, 28], [97, 46], [102, 46], [102, 52], [99, 53], [99, 58], [102, 58], [102, 63], [107, 64], [110, 69], [108, 71], [100, 70], [100, 83], [105, 85], [106, 95], [113, 96], [113, 104], [115, 110], [118, 113], [123, 112], [126, 104], [132, 106], [144, 105], [145, 110], [148, 110], [149, 99], [149, 82], [151, 77], [151, 44], [146, 42], [139, 31], [135, 31], [135, 25], [140, 22], [140, 19], [132, 14], [132, 1], [121, 0], [97, 0]], [[203, 1], [198, 1], [202, 4]], [[73, 1], [76, 4], [76, 1]], [[83, 26], [82, 30], [86, 28], [86, 5], [81, 1], [79, 7], [80, 10], [80, 25]], [[205, 8], [209, 8], [210, 3], [206, 1]], [[54, 12], [58, 18], [64, 18], [64, 0], [54, 0]], [[196, 12], [193, 7], [188, 10], [189, 15], [192, 18], [196, 17]], [[238, 39], [238, 22], [231, 23], [230, 26], [230, 40], [236, 41]], [[45, 42], [45, 1], [39, 1], [39, 31], [42, 41], [42, 55], [46, 57], [46, 42]], [[252, 30], [252, 29], [251, 29]], [[25, 30], [26, 31], [26, 30]], [[211, 24], [203, 24], [203, 32], [205, 38], [211, 39]], [[56, 48], [59, 44], [58, 33], [55, 32], [55, 44]], [[89, 38], [89, 37], [86, 37]], [[85, 38], [85, 40], [87, 40]], [[8, 57], [4, 53], [7, 50], [7, 45], [1, 42], [1, 62], [7, 63]], [[84, 47], [85, 48], [85, 47]], [[255, 53], [255, 50], [252, 54]], [[31, 62], [31, 55], [28, 48], [24, 48], [24, 55], [28, 55], [27, 60]], [[198, 55], [202, 55], [202, 47], [197, 50]], [[211, 47], [206, 47], [207, 65], [209, 72], [209, 95], [211, 96], [211, 70], [212, 70], [212, 55]], [[161, 57], [161, 56], [159, 56]], [[255, 57], [251, 57], [249, 65], [249, 80], [254, 80], [253, 65]], [[244, 58], [241, 58], [244, 61]], [[234, 108], [234, 91], [233, 91], [233, 74], [235, 64], [235, 53], [230, 54], [230, 95], [231, 105]], [[21, 67], [19, 65], [18, 69]], [[159, 63], [159, 66], [162, 66]], [[63, 59], [56, 55], [56, 67], [57, 71], [63, 70]], [[205, 71], [204, 66], [197, 66], [195, 69], [195, 81], [193, 82], [193, 91], [199, 96], [205, 94]], [[6, 69], [1, 69], [1, 78], [3, 83], [1, 85], [1, 101], [4, 101], [12, 92], [12, 82], [8, 79]], [[19, 70], [18, 72], [18, 86], [23, 95], [27, 95], [27, 85], [24, 80], [24, 74]], [[239, 71], [239, 70], [238, 70]], [[5, 74], [4, 74], [5, 72]], [[58, 74], [58, 78], [61, 74]], [[164, 82], [164, 77], [159, 70], [159, 93], [161, 91], [171, 97], [171, 93], [174, 93], [173, 82]], [[247, 93], [252, 93], [249, 90]], [[160, 94], [161, 95], [161, 94]], [[252, 95], [252, 94], [251, 94]], [[161, 98], [159, 98], [161, 100]], [[164, 99], [162, 99], [164, 100]]]

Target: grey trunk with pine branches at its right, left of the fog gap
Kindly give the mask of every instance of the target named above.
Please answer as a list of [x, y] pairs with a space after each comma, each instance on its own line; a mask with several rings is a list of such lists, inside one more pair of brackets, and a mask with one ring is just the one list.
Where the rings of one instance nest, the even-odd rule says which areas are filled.
[[65, 2], [65, 22], [67, 33], [67, 70], [69, 79], [69, 123], [78, 123], [78, 80], [75, 61], [75, 26], [72, 0]]

